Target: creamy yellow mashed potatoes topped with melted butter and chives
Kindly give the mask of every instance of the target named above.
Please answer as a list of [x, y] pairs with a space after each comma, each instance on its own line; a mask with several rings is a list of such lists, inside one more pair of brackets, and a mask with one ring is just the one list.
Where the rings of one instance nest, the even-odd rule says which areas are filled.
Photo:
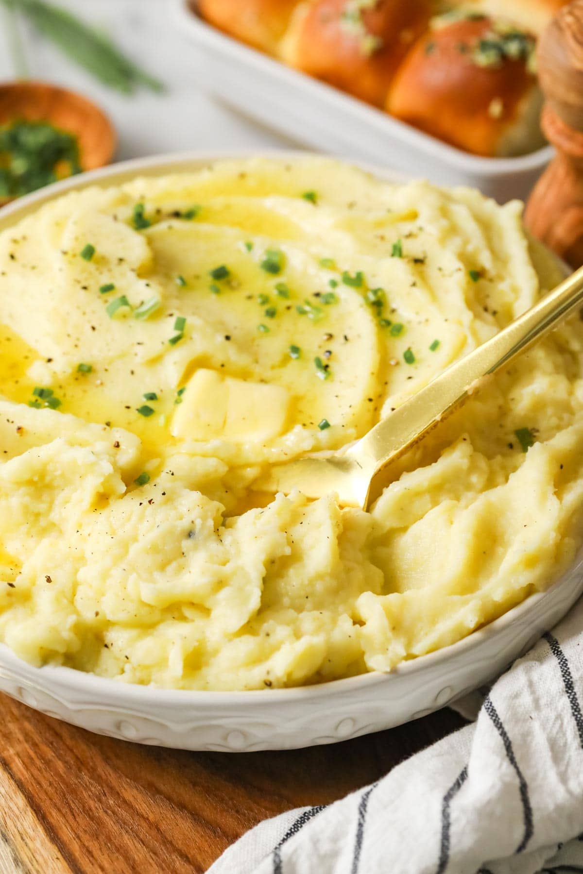
[[253, 489], [561, 278], [520, 205], [328, 159], [91, 188], [0, 236], [0, 639], [131, 683], [317, 683], [446, 646], [583, 539], [583, 324], [370, 513]]

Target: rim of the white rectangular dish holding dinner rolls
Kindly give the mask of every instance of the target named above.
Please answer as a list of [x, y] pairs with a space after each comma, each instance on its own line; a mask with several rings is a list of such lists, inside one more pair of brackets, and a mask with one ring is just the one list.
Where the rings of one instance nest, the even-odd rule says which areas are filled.
[[[198, 0], [193, 0], [193, 2], [198, 7]], [[527, 152], [525, 155], [510, 157], [474, 155], [464, 151], [464, 149], [458, 149], [457, 146], [440, 140], [439, 137], [427, 134], [420, 128], [415, 128], [412, 124], [395, 118], [383, 109], [371, 106], [371, 104], [353, 97], [340, 88], [335, 88], [308, 73], [303, 73], [302, 70], [296, 70], [284, 61], [265, 52], [260, 52], [259, 49], [246, 45], [241, 40], [220, 31], [219, 28], [205, 21], [200, 16], [198, 9], [193, 9], [192, 0], [172, 0], [172, 9], [178, 24], [188, 27], [198, 38], [204, 38], [215, 50], [229, 52], [243, 64], [253, 66], [258, 72], [269, 74], [272, 79], [283, 84], [293, 83], [295, 87], [301, 88], [308, 98], [311, 91], [329, 103], [336, 102], [338, 106], [342, 106], [351, 114], [357, 115], [361, 121], [369, 122], [377, 128], [385, 127], [393, 136], [398, 136], [403, 144], [417, 149], [424, 156], [430, 156], [434, 160], [447, 164], [452, 169], [467, 173], [481, 173], [486, 177], [497, 177], [528, 170], [542, 170], [554, 154], [554, 149], [550, 143], [532, 152]], [[419, 157], [422, 155], [420, 154]]]

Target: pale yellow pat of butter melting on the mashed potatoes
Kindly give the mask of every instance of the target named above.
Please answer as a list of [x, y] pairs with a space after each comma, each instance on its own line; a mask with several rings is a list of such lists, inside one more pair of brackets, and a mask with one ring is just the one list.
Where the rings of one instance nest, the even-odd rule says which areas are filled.
[[170, 432], [180, 440], [265, 442], [281, 434], [288, 419], [289, 394], [281, 385], [223, 377], [201, 368], [176, 407]]

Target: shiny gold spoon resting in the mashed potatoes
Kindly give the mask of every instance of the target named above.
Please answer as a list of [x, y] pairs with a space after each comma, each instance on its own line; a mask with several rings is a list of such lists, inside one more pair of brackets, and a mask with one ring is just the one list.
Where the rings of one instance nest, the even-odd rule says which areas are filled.
[[583, 267], [519, 316], [434, 378], [350, 449], [276, 465], [253, 488], [299, 489], [308, 497], [336, 492], [340, 503], [366, 510], [391, 482], [390, 466], [457, 410], [484, 379], [529, 349], [583, 305]]

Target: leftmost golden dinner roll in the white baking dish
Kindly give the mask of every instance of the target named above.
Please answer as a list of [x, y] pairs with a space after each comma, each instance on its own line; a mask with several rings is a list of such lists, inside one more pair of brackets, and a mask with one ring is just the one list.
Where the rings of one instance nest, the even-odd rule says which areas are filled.
[[299, 0], [198, 0], [198, 14], [229, 36], [276, 54]]

